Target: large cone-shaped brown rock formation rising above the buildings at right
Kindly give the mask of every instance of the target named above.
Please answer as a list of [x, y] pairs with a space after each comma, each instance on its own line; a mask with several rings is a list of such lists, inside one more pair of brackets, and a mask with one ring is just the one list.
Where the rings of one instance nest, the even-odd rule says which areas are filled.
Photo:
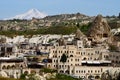
[[102, 15], [98, 15], [89, 29], [88, 36], [91, 37], [95, 42], [103, 42], [104, 39], [111, 38], [110, 30], [111, 29], [107, 21], [102, 17]]

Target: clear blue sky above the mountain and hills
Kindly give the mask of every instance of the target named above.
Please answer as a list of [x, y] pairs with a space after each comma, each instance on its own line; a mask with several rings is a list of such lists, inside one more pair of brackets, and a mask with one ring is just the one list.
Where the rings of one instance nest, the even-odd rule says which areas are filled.
[[36, 8], [48, 15], [83, 13], [118, 15], [120, 0], [0, 0], [0, 19], [13, 17]]

